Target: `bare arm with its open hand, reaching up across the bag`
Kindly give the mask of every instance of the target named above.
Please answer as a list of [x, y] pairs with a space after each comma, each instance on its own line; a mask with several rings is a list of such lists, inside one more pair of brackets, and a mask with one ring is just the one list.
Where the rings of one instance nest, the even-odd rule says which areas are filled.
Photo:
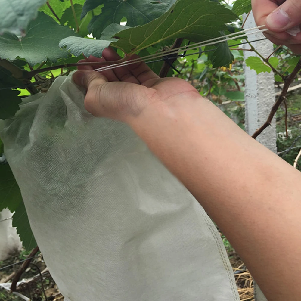
[[[105, 49], [88, 60], [118, 58]], [[300, 300], [301, 173], [182, 79], [160, 79], [144, 63], [81, 69], [73, 80], [87, 89], [86, 109], [132, 127], [217, 223], [268, 300]]]

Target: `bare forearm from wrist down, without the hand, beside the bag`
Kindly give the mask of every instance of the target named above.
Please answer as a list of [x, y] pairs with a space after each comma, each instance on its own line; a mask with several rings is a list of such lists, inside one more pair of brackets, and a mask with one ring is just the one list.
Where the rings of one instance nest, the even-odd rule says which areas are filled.
[[219, 225], [265, 295], [299, 299], [301, 174], [210, 102], [180, 98], [149, 106], [130, 125]]

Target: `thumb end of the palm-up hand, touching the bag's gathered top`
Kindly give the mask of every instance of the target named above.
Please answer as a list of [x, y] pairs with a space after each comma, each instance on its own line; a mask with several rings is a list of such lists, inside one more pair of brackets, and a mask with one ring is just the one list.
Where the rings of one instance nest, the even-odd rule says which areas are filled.
[[100, 86], [108, 82], [107, 78], [100, 72], [92, 70], [78, 70], [72, 76], [73, 82], [86, 90], [92, 86]]

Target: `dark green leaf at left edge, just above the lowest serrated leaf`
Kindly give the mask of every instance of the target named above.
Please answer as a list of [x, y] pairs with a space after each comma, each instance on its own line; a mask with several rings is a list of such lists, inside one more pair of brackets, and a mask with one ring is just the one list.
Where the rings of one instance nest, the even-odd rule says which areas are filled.
[[8, 164], [0, 164], [0, 211], [8, 208], [14, 212], [23, 202], [20, 188]]

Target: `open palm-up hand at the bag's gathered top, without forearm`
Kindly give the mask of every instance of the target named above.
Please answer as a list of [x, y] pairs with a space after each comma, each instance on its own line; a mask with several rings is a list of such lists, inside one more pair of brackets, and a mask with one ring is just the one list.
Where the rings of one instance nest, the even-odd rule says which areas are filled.
[[[106, 48], [103, 58], [89, 57], [88, 61], [119, 59], [112, 48]], [[148, 106], [183, 101], [186, 96], [200, 97], [185, 80], [160, 78], [144, 62], [103, 72], [93, 71], [99, 67], [102, 66], [80, 66], [73, 75], [73, 81], [87, 89], [85, 108], [94, 116], [128, 122]]]

